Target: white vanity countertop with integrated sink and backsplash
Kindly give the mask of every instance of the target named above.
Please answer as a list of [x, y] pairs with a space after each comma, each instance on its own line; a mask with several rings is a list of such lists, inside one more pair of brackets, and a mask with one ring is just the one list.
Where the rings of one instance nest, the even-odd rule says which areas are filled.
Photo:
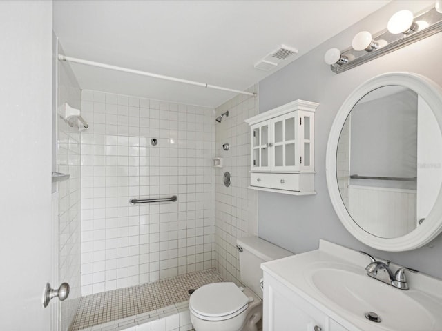
[[[318, 250], [263, 263], [262, 269], [345, 330], [442, 331], [441, 279], [407, 273], [410, 290], [400, 290], [369, 277], [368, 263], [357, 251], [320, 241]], [[368, 312], [381, 322], [367, 319]]]

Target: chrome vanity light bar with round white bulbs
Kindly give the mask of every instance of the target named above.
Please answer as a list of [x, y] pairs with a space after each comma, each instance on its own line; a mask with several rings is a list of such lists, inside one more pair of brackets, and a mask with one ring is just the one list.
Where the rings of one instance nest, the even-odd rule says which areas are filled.
[[442, 0], [435, 1], [434, 7], [416, 17], [410, 10], [396, 12], [388, 21], [387, 30], [373, 35], [359, 32], [352, 40], [352, 47], [331, 48], [324, 61], [339, 74], [439, 32], [442, 32]]

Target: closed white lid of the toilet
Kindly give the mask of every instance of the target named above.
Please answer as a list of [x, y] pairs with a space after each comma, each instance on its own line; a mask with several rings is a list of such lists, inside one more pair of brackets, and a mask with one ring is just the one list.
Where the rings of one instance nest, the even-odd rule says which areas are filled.
[[[249, 298], [235, 283], [212, 283], [192, 293], [189, 307], [202, 317], [226, 317], [247, 309]], [[229, 316], [231, 318], [231, 316]]]

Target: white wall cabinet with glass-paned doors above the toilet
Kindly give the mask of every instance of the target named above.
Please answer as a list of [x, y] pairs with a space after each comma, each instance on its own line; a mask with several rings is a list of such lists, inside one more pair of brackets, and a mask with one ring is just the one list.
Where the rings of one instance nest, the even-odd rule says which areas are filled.
[[314, 112], [318, 106], [296, 100], [246, 120], [251, 146], [249, 188], [316, 194]]

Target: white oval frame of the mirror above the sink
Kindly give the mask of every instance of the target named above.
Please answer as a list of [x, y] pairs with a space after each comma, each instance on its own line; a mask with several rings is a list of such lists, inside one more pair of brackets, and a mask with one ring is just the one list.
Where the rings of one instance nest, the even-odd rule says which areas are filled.
[[411, 72], [391, 72], [388, 74], [381, 74], [380, 76], [369, 79], [361, 84], [361, 86], [358, 86], [358, 88], [347, 97], [343, 105], [340, 107], [329, 134], [327, 154], [325, 158], [325, 171], [330, 199], [332, 199], [334, 210], [336, 211], [336, 214], [338, 214], [338, 217], [345, 228], [356, 239], [372, 248], [390, 252], [401, 252], [405, 250], [414, 250], [429, 243], [442, 231], [442, 190], [439, 190], [439, 195], [430, 214], [428, 214], [425, 221], [415, 230], [403, 237], [381, 238], [363, 230], [349, 215], [349, 212], [347, 211], [347, 208], [345, 208], [343, 200], [340, 197], [336, 176], [336, 150], [338, 148], [340, 132], [349, 112], [352, 111], [354, 105], [356, 105], [365, 94], [376, 88], [390, 85], [410, 88], [410, 90], [413, 90], [423, 97], [428, 106], [432, 109], [434, 116], [438, 121], [439, 128], [442, 128], [442, 89], [434, 83], [434, 81], [431, 81], [420, 74], [414, 74]]

